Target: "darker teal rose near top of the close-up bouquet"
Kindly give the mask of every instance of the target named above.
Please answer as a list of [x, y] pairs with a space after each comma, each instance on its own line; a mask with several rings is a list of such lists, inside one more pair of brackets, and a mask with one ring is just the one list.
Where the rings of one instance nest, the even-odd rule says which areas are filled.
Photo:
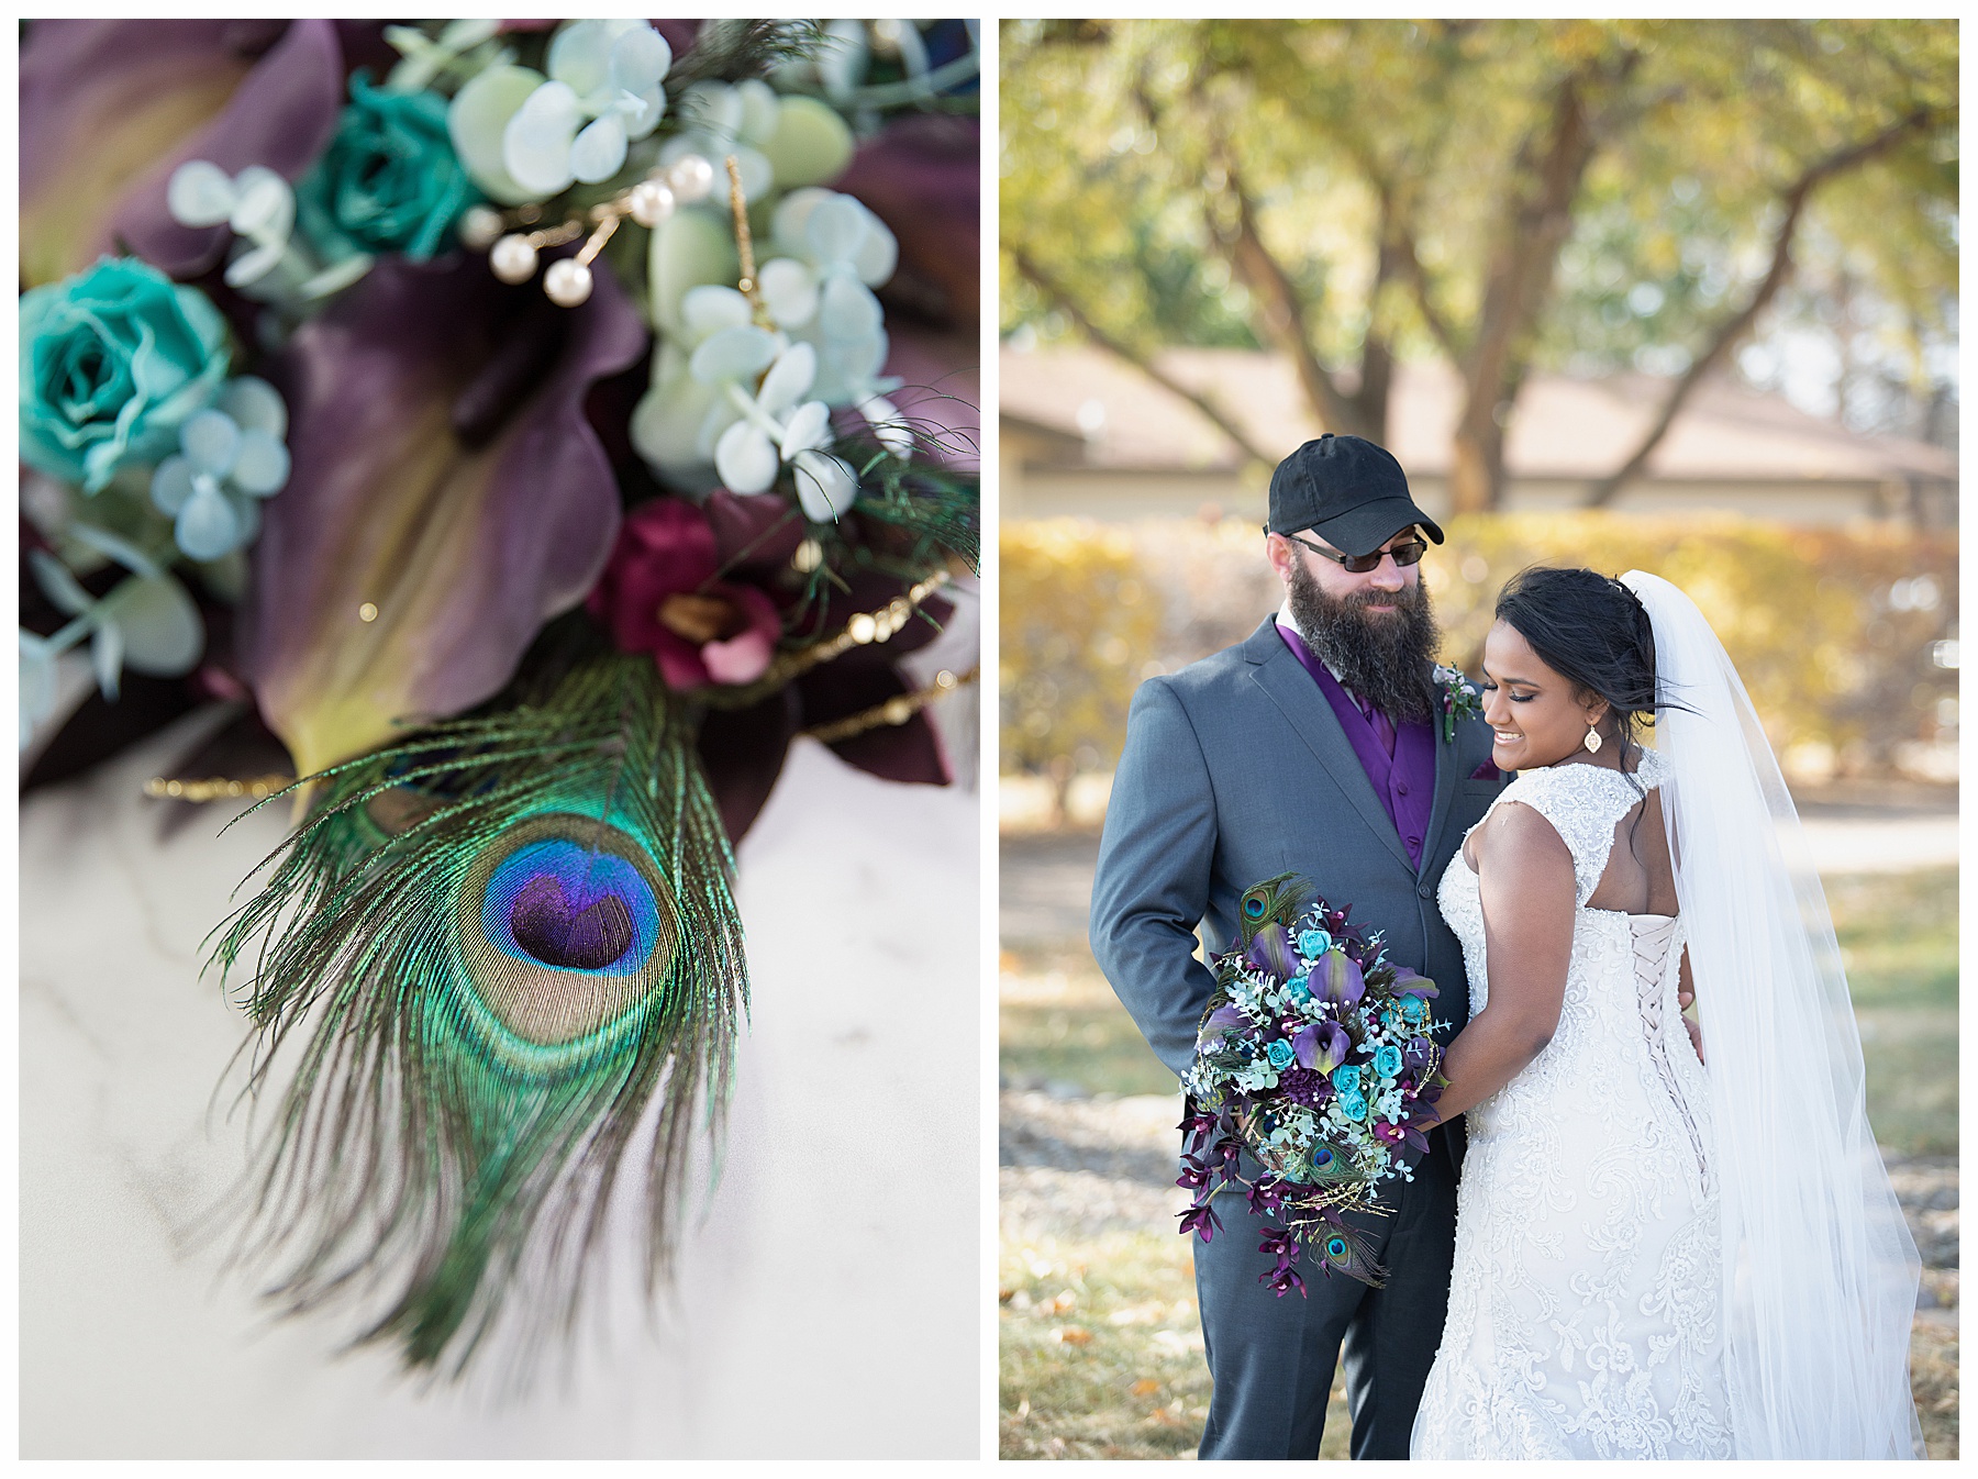
[[437, 93], [384, 93], [350, 79], [328, 150], [295, 188], [303, 231], [324, 253], [402, 251], [425, 261], [481, 194], [447, 134]]

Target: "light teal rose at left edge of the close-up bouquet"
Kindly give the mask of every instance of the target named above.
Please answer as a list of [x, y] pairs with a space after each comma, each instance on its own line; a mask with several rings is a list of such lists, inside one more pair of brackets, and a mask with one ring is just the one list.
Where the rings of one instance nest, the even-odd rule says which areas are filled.
[[227, 326], [198, 289], [136, 257], [20, 297], [20, 457], [97, 492], [178, 447], [227, 378]]

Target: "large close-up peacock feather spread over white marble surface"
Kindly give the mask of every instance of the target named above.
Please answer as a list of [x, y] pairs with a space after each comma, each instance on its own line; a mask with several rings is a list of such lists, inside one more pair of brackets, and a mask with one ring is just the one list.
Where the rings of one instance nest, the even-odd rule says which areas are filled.
[[222, 977], [253, 951], [253, 1091], [293, 1064], [243, 1206], [271, 1297], [354, 1297], [415, 1368], [459, 1374], [504, 1313], [534, 1348], [635, 1161], [651, 1291], [748, 1004], [680, 700], [589, 654], [303, 785], [214, 951]]

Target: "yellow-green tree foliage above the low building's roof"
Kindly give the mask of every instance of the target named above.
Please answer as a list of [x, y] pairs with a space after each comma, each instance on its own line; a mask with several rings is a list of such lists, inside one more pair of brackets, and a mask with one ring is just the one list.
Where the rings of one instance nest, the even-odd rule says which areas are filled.
[[1327, 368], [1464, 358], [1571, 81], [1592, 156], [1519, 364], [1683, 370], [1764, 277], [1782, 192], [1927, 117], [1814, 194], [1796, 249], [1810, 291], [1845, 267], [1897, 308], [1921, 380], [1956, 334], [1956, 79], [1948, 20], [1009, 22], [1003, 328], [1064, 328], [1021, 251], [1129, 346], [1266, 340], [1222, 261], [1240, 174]]

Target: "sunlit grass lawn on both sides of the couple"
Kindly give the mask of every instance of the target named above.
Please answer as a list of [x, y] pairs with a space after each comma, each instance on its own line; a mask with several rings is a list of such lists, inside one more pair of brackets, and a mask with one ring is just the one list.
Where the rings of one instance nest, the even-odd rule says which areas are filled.
[[[1875, 1135], [1905, 1155], [1954, 1157], [1956, 870], [1826, 886], [1861, 1022]], [[1082, 941], [1005, 951], [1001, 1032], [1009, 1084], [1175, 1091]], [[1954, 1271], [1927, 1277], [1956, 1303]], [[1193, 1457], [1211, 1382], [1187, 1242], [1167, 1228], [1074, 1240], [1007, 1218], [999, 1281], [1003, 1457]], [[1956, 1457], [1954, 1313], [1917, 1321], [1911, 1362], [1931, 1457]], [[1335, 1382], [1321, 1457], [1345, 1451]]]

